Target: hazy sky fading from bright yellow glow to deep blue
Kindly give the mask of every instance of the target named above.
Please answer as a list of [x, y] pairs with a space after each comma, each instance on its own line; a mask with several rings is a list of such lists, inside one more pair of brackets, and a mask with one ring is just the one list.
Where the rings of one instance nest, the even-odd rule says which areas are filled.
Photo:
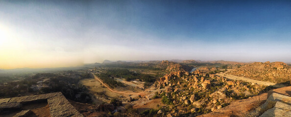
[[291, 62], [288, 0], [0, 0], [0, 68]]

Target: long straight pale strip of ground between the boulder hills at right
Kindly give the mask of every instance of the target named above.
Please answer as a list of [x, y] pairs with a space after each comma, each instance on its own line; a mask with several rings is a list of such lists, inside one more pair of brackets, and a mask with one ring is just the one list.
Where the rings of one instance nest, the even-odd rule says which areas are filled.
[[220, 73], [217, 73], [216, 75], [221, 76], [221, 77], [225, 77], [225, 78], [229, 78], [229, 79], [234, 79], [234, 80], [243, 80], [243, 81], [253, 82], [253, 83], [267, 85], [267, 86], [274, 86], [277, 88], [285, 87], [285, 85], [283, 85], [283, 84], [276, 84], [276, 83], [272, 83], [272, 82], [260, 81], [260, 80], [255, 80], [255, 79], [251, 79], [251, 78], [237, 77], [237, 76], [233, 76], [233, 75], [220, 74]]

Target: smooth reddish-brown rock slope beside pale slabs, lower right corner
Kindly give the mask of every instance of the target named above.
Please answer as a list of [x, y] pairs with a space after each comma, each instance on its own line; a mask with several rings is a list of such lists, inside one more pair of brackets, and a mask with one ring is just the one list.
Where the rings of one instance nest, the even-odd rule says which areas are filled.
[[[200, 115], [197, 117], [241, 117], [242, 114], [247, 115], [248, 113], [252, 113], [252, 110], [255, 110], [258, 106], [260, 106], [260, 105], [263, 106], [264, 103], [267, 102], [267, 100], [277, 100], [276, 102], [282, 102], [280, 100], [284, 100], [284, 102], [282, 102], [282, 103], [288, 104], [289, 99], [291, 97], [290, 91], [291, 91], [291, 86], [273, 89], [273, 90], [268, 91], [267, 93], [264, 93], [264, 94], [261, 94], [258, 96], [254, 96], [252, 98], [237, 100], [224, 108], [221, 108], [221, 109], [218, 109], [212, 113]], [[277, 104], [277, 103], [274, 103], [274, 104]], [[277, 108], [279, 105], [281, 105], [281, 104], [278, 103], [278, 105], [274, 106], [274, 107]], [[290, 105], [290, 104], [288, 104], [288, 105]], [[279, 106], [279, 107], [281, 107], [281, 106]], [[271, 108], [272, 108], [272, 106], [271, 106]], [[289, 108], [289, 106], [288, 106], [288, 108]], [[273, 109], [273, 110], [275, 110], [275, 109]], [[275, 112], [275, 111], [270, 110], [267, 113], [269, 113], [269, 112]], [[285, 115], [288, 115], [288, 114], [289, 113], [285, 113]], [[268, 117], [276, 117], [276, 116], [268, 116]], [[280, 116], [277, 116], [277, 117], [280, 117]], [[283, 117], [289, 117], [289, 116], [283, 116]]]

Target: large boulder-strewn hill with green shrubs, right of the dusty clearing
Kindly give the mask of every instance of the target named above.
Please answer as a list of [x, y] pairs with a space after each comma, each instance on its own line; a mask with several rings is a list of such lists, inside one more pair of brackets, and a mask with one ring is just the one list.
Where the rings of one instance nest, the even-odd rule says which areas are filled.
[[157, 88], [165, 88], [159, 96], [167, 104], [161, 116], [198, 116], [219, 110], [237, 99], [258, 95], [265, 86], [229, 80], [215, 74], [206, 74], [199, 70], [189, 73], [170, 64], [170, 71], [157, 81]]

